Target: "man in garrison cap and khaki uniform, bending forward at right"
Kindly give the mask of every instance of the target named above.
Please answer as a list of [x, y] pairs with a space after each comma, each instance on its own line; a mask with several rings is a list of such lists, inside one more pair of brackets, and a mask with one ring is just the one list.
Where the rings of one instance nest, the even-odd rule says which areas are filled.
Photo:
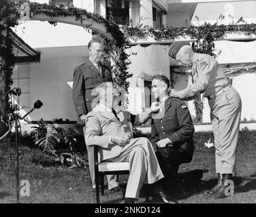
[[175, 42], [170, 46], [169, 56], [184, 65], [192, 65], [192, 84], [184, 90], [172, 89], [170, 96], [180, 99], [204, 93], [210, 106], [215, 166], [218, 183], [205, 193], [213, 198], [226, 197], [225, 189], [235, 170], [236, 146], [242, 102], [240, 95], [229, 83], [219, 63], [208, 54], [193, 52], [187, 42]]

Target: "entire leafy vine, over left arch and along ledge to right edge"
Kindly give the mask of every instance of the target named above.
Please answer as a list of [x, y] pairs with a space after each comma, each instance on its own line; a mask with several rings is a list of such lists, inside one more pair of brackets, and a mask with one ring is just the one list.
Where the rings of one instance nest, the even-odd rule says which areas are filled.
[[[14, 66], [13, 41], [8, 31], [10, 27], [18, 24], [20, 18], [19, 8], [22, 3], [24, 1], [14, 3], [9, 0], [1, 0], [0, 3], [0, 121], [5, 123], [8, 117], [8, 103], [5, 95], [10, 90], [10, 85], [12, 85], [12, 68]], [[110, 40], [102, 35], [100, 36], [106, 45], [106, 56], [104, 57], [103, 64], [106, 65], [107, 73], [112, 73], [114, 83], [118, 86], [125, 87], [126, 90], [129, 87], [127, 78], [132, 76], [128, 71], [128, 66], [131, 64], [129, 55], [125, 52], [125, 49], [129, 47], [128, 38], [138, 40], [153, 37], [157, 41], [174, 41], [177, 37], [186, 35], [193, 40], [192, 47], [195, 52], [217, 56], [218, 54], [214, 54], [214, 41], [223, 37], [225, 33], [238, 31], [245, 33], [247, 36], [256, 33], [256, 24], [246, 24], [243, 18], [229, 25], [218, 23], [209, 24], [205, 22], [200, 26], [163, 26], [160, 29], [150, 28], [149, 26], [142, 28], [141, 24], [138, 26], [130, 24], [129, 26], [125, 26], [123, 31], [121, 31], [112, 19], [106, 20], [102, 16], [99, 16], [99, 14], [87, 12], [85, 9], [76, 7], [65, 8], [54, 5], [53, 3], [39, 4], [31, 2], [29, 2], [29, 8], [31, 17], [37, 14], [45, 14], [50, 17], [73, 16], [76, 20], [80, 20], [81, 23], [85, 18], [92, 18], [97, 23], [103, 23], [106, 26], [106, 30], [114, 38], [114, 40]], [[56, 25], [57, 23], [50, 22], [50, 24]], [[87, 25], [86, 27], [89, 28], [90, 26]], [[201, 104], [199, 102], [194, 103], [199, 104], [199, 108], [202, 107], [202, 102]], [[197, 110], [201, 113], [200, 109]]]

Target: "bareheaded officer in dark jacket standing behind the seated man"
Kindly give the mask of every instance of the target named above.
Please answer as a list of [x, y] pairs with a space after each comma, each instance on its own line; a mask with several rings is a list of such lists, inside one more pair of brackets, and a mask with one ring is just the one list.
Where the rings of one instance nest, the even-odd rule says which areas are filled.
[[[78, 113], [78, 124], [84, 124], [86, 114], [92, 111], [92, 102], [96, 98], [93, 89], [104, 81], [112, 81], [111, 75], [104, 72], [101, 65], [103, 44], [98, 39], [92, 39], [88, 44], [89, 59], [76, 66], [74, 71], [73, 101]], [[85, 126], [83, 128], [85, 136]], [[93, 146], [87, 146], [89, 167], [93, 188], [95, 178], [93, 172]], [[108, 176], [108, 189], [116, 189], [116, 176]]]

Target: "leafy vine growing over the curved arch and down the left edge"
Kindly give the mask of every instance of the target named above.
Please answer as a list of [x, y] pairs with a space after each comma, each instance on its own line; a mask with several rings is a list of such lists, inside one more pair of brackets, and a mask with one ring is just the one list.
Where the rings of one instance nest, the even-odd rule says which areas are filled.
[[[2, 123], [7, 123], [10, 110], [8, 104], [7, 92], [10, 90], [10, 85], [12, 85], [12, 69], [14, 67], [14, 54], [13, 54], [13, 41], [8, 31], [10, 27], [14, 27], [18, 24], [20, 19], [20, 6], [25, 3], [25, 1], [19, 1], [18, 3], [3, 0], [0, 3], [0, 117]], [[45, 14], [49, 17], [59, 17], [59, 16], [71, 16], [75, 17], [76, 20], [80, 20], [81, 23], [86, 18], [92, 18], [97, 23], [103, 23], [106, 26], [106, 31], [111, 33], [113, 40], [107, 39], [106, 37], [101, 37], [104, 40], [105, 46], [105, 58], [103, 64], [107, 68], [107, 73], [113, 75], [114, 83], [120, 87], [124, 87], [125, 90], [129, 87], [129, 81], [127, 78], [131, 77], [132, 74], [128, 71], [128, 65], [130, 64], [128, 57], [129, 55], [125, 52], [125, 35], [120, 30], [117, 24], [111, 20], [106, 20], [99, 14], [87, 12], [85, 9], [79, 9], [76, 7], [65, 8], [63, 6], [50, 4], [39, 4], [31, 3], [29, 4], [29, 16], [33, 17], [37, 14]], [[54, 26], [57, 25], [56, 22], [49, 22]], [[89, 25], [85, 26], [90, 28]]]

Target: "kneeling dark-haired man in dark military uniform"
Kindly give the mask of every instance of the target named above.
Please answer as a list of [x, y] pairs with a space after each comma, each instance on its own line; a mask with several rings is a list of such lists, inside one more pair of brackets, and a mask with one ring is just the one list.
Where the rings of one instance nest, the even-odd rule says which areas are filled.
[[151, 142], [157, 146], [156, 155], [165, 176], [165, 187], [173, 191], [174, 186], [182, 188], [178, 167], [181, 163], [191, 162], [193, 157], [194, 126], [186, 104], [170, 98], [169, 87], [170, 81], [164, 75], [153, 77], [152, 92], [161, 109], [152, 117]]

